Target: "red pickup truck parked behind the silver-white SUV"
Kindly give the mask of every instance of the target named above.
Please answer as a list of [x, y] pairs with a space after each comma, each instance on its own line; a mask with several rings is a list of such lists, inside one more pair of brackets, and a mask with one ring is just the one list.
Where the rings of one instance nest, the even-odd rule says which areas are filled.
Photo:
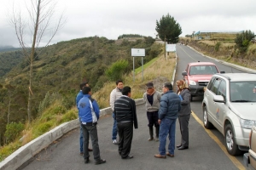
[[211, 62], [193, 62], [189, 63], [183, 71], [183, 80], [187, 82], [190, 88], [190, 100], [194, 96], [204, 95], [204, 88], [207, 87], [212, 75], [218, 73], [218, 68]]

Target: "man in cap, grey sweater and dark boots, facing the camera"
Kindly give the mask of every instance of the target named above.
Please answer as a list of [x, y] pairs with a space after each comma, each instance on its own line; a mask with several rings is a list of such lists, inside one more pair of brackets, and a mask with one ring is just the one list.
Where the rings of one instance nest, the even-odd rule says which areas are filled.
[[149, 128], [149, 139], [148, 141], [154, 140], [153, 126], [155, 127], [155, 141], [159, 141], [159, 123], [158, 123], [158, 111], [160, 107], [160, 92], [154, 90], [154, 84], [148, 82], [146, 84], [147, 91], [143, 94], [143, 99], [146, 105], [147, 117], [148, 117], [148, 128]]

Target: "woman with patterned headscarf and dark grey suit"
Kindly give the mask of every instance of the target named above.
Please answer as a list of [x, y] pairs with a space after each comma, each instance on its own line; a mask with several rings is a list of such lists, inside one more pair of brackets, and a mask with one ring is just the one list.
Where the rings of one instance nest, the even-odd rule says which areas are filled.
[[178, 150], [189, 149], [189, 118], [191, 114], [190, 108], [190, 90], [186, 82], [178, 80], [177, 94], [181, 99], [181, 111], [178, 112], [178, 122], [181, 133], [181, 144], [177, 145]]

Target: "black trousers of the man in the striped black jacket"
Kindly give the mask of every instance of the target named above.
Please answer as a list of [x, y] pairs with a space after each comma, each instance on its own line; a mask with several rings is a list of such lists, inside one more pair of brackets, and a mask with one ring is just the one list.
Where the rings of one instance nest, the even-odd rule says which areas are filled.
[[119, 154], [125, 158], [131, 151], [131, 141], [133, 137], [133, 122], [118, 122], [119, 132]]

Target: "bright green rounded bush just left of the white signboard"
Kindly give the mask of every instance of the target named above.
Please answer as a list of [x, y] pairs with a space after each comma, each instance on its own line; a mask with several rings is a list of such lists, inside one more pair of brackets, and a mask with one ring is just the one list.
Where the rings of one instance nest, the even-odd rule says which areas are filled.
[[108, 70], [105, 72], [107, 77], [110, 80], [116, 81], [116, 80], [121, 80], [123, 74], [127, 71], [128, 68], [128, 61], [121, 59], [119, 61], [116, 61], [113, 63]]

